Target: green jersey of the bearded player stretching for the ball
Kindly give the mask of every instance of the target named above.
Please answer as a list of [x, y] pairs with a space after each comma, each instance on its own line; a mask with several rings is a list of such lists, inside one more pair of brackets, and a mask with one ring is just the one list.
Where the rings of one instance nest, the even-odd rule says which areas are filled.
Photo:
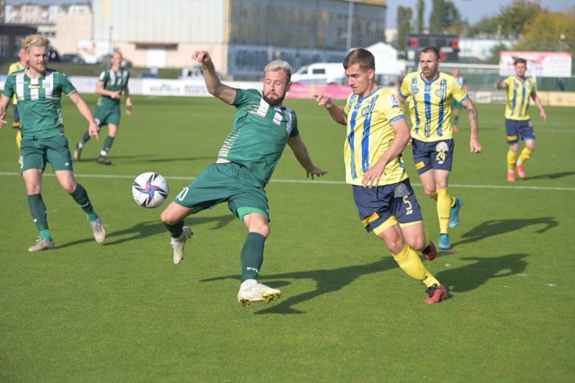
[[234, 126], [217, 158], [239, 163], [267, 184], [289, 137], [299, 135], [296, 113], [271, 107], [255, 89], [237, 89], [232, 105]]

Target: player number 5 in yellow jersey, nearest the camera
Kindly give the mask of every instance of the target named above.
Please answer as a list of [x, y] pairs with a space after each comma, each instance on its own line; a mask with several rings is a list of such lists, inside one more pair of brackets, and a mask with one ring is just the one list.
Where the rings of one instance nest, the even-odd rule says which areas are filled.
[[377, 85], [375, 57], [367, 49], [349, 52], [343, 67], [352, 91], [345, 107], [325, 94], [315, 95], [315, 100], [347, 126], [346, 182], [353, 187], [359, 218], [366, 231], [384, 241], [403, 271], [427, 286], [425, 303], [439, 303], [447, 299], [447, 290], [415, 252], [422, 251], [429, 260], [437, 256], [402, 159], [410, 129], [399, 100]]

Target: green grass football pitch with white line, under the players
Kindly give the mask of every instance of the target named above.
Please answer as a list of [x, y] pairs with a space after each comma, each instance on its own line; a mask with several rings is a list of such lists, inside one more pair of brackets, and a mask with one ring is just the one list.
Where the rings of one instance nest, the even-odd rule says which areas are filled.
[[[94, 96], [85, 96], [94, 105]], [[532, 108], [537, 149], [526, 180], [506, 181], [502, 105], [478, 105], [481, 154], [462, 113], [450, 192], [464, 199], [452, 251], [429, 270], [449, 299], [425, 287], [367, 234], [345, 185], [345, 128], [314, 100], [287, 100], [319, 167], [305, 178], [289, 148], [270, 185], [271, 235], [261, 282], [270, 304], [236, 300], [243, 225], [226, 205], [190, 217], [195, 235], [173, 265], [161, 208], [131, 196], [157, 171], [170, 198], [209, 163], [234, 108], [211, 98], [133, 97], [109, 167], [93, 140], [75, 162], [108, 231], [95, 243], [84, 213], [49, 168], [42, 195], [57, 248], [29, 253], [37, 235], [18, 172], [14, 132], [0, 131], [0, 381], [2, 382], [569, 382], [575, 376], [575, 111]], [[87, 127], [65, 101], [71, 148]], [[12, 112], [9, 111], [9, 116]], [[435, 205], [405, 152], [426, 227]]]

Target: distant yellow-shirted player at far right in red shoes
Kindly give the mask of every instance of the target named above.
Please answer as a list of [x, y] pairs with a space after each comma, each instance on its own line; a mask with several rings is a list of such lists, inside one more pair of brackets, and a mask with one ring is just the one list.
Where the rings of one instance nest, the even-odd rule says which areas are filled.
[[[534, 100], [539, 108], [541, 118], [545, 121], [547, 115], [537, 92], [535, 91], [535, 81], [526, 78], [527, 62], [525, 58], [517, 58], [513, 63], [515, 75], [509, 76], [503, 82], [498, 80], [495, 83], [497, 89], [507, 89], [507, 104], [505, 106], [505, 129], [507, 130], [507, 180], [515, 182], [515, 170], [520, 178], [525, 178], [523, 162], [531, 157], [535, 151], [535, 132], [529, 118], [529, 99]], [[519, 149], [519, 137], [525, 141], [525, 148], [517, 159]]]

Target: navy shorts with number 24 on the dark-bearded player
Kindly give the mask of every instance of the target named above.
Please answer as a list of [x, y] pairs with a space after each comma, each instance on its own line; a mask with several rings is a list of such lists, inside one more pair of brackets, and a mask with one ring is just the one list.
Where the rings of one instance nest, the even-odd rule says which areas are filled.
[[411, 147], [413, 148], [413, 163], [419, 174], [432, 169], [451, 171], [453, 151], [456, 148], [456, 143], [452, 138], [432, 143], [413, 138]]

